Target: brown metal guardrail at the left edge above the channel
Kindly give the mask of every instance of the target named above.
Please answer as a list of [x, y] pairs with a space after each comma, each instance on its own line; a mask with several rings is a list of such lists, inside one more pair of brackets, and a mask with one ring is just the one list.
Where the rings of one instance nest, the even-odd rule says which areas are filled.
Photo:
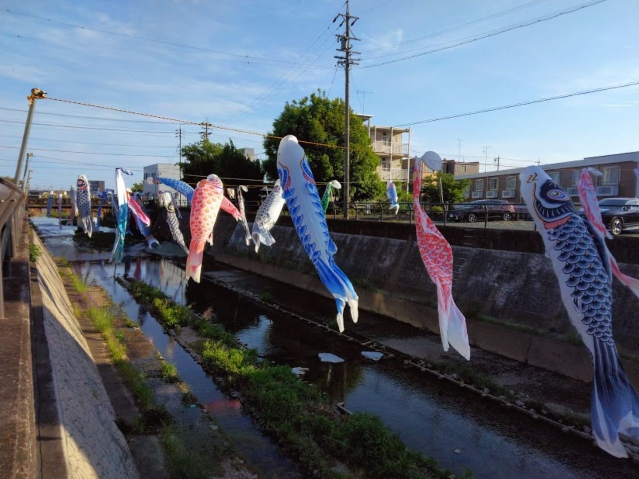
[[[2, 262], [15, 257], [24, 218], [24, 192], [11, 181], [0, 178], [0, 254]], [[3, 284], [0, 268], [0, 284]], [[0, 317], [4, 317], [4, 293], [0, 287]]]

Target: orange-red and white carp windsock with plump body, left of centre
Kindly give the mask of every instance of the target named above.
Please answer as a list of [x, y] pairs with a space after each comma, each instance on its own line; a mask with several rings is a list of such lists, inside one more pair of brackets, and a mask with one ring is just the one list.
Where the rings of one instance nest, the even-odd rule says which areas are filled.
[[204, 255], [204, 243], [213, 244], [213, 226], [220, 211], [222, 198], [224, 197], [224, 185], [215, 174], [210, 174], [206, 179], [197, 183], [191, 199], [191, 243], [189, 256], [187, 256], [186, 276], [199, 283], [202, 272], [202, 257]]

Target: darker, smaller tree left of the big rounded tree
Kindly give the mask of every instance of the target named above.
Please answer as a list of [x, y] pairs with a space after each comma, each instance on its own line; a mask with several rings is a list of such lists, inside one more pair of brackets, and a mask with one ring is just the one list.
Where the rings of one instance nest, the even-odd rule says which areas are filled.
[[[202, 140], [182, 148], [183, 181], [195, 186], [197, 181], [215, 173], [222, 179], [225, 187], [233, 188], [238, 185], [262, 185], [264, 172], [259, 162], [253, 162], [235, 148], [233, 141], [222, 145]], [[257, 195], [258, 188], [250, 188], [252, 197]]]

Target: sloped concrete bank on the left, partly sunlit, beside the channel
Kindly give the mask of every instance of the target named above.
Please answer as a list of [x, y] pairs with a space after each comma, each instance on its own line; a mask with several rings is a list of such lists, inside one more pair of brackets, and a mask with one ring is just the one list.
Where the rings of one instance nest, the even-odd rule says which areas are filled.
[[[43, 476], [135, 479], [137, 470], [132, 455], [116, 425], [111, 401], [58, 268], [36, 234], [33, 242], [43, 252], [37, 261], [38, 280], [34, 288], [38, 288], [39, 301], [35, 308], [42, 311], [43, 340], [50, 367], [49, 383], [40, 384], [40, 388], [46, 390], [52, 401], [47, 417], [41, 414], [41, 422], [46, 424], [41, 426], [40, 440], [58, 442], [64, 463], [57, 473], [43, 469]], [[43, 437], [43, 432], [47, 437]], [[43, 457], [43, 465], [46, 459]]]

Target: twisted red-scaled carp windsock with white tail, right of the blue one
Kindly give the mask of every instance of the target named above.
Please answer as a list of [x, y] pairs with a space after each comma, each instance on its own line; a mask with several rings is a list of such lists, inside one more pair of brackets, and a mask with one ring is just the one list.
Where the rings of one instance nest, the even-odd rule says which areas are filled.
[[452, 248], [431, 218], [428, 217], [420, 202], [422, 165], [438, 171], [442, 167], [442, 158], [435, 151], [427, 151], [415, 162], [413, 206], [415, 208], [417, 247], [424, 266], [426, 266], [426, 272], [437, 289], [437, 313], [443, 350], [448, 351], [450, 344], [466, 360], [470, 360], [466, 318], [452, 298]]

